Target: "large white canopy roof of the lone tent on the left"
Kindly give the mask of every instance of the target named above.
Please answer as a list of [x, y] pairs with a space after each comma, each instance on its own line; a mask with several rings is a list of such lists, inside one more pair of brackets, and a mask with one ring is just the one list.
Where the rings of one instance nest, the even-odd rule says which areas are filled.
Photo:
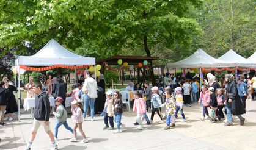
[[15, 65], [95, 65], [95, 58], [83, 57], [68, 51], [56, 40], [51, 39], [40, 51], [32, 56], [19, 56]]

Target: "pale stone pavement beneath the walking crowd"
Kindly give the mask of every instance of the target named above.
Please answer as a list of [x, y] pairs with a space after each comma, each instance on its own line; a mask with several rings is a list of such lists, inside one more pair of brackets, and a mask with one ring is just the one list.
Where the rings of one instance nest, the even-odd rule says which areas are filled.
[[[235, 126], [224, 127], [222, 121], [209, 123], [208, 120], [200, 121], [202, 108], [199, 105], [185, 107], [186, 123], [177, 118], [176, 127], [164, 130], [166, 124], [158, 124], [159, 116], [155, 115], [153, 124], [145, 125], [144, 130], [137, 130], [133, 126], [135, 113], [123, 113], [122, 123], [126, 129], [120, 134], [103, 130], [103, 118], [95, 116], [95, 121], [83, 123], [84, 132], [89, 138], [89, 143], [71, 143], [71, 133], [64, 128], [59, 128], [59, 149], [256, 149], [256, 101], [247, 101], [247, 113], [244, 116], [246, 123], [239, 125], [238, 118]], [[148, 114], [150, 116], [150, 114]], [[73, 121], [68, 118], [68, 124], [73, 127]], [[51, 130], [54, 131], [55, 120], [50, 118]], [[32, 120], [29, 112], [21, 112], [20, 123], [17, 120], [9, 122], [7, 126], [0, 127], [0, 149], [24, 149], [29, 140]], [[81, 136], [78, 131], [78, 138]], [[37, 137], [31, 149], [49, 149], [51, 142], [43, 127], [38, 130]]]

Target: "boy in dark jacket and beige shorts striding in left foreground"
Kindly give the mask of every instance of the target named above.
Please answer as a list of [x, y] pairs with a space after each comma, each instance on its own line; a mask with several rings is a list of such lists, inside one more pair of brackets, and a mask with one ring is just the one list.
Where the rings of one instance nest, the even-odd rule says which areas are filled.
[[56, 142], [54, 140], [53, 132], [51, 132], [51, 129], [49, 127], [49, 115], [50, 115], [50, 104], [49, 104], [49, 98], [46, 93], [42, 92], [42, 85], [36, 84], [33, 87], [33, 91], [35, 93], [35, 110], [34, 110], [34, 122], [31, 132], [31, 137], [29, 140], [29, 143], [27, 143], [26, 149], [31, 149], [31, 145], [33, 141], [35, 140], [35, 135], [37, 135], [37, 130], [42, 125], [45, 129], [45, 132], [49, 135], [49, 138], [51, 140], [51, 150], [57, 149], [58, 146], [56, 145]]

